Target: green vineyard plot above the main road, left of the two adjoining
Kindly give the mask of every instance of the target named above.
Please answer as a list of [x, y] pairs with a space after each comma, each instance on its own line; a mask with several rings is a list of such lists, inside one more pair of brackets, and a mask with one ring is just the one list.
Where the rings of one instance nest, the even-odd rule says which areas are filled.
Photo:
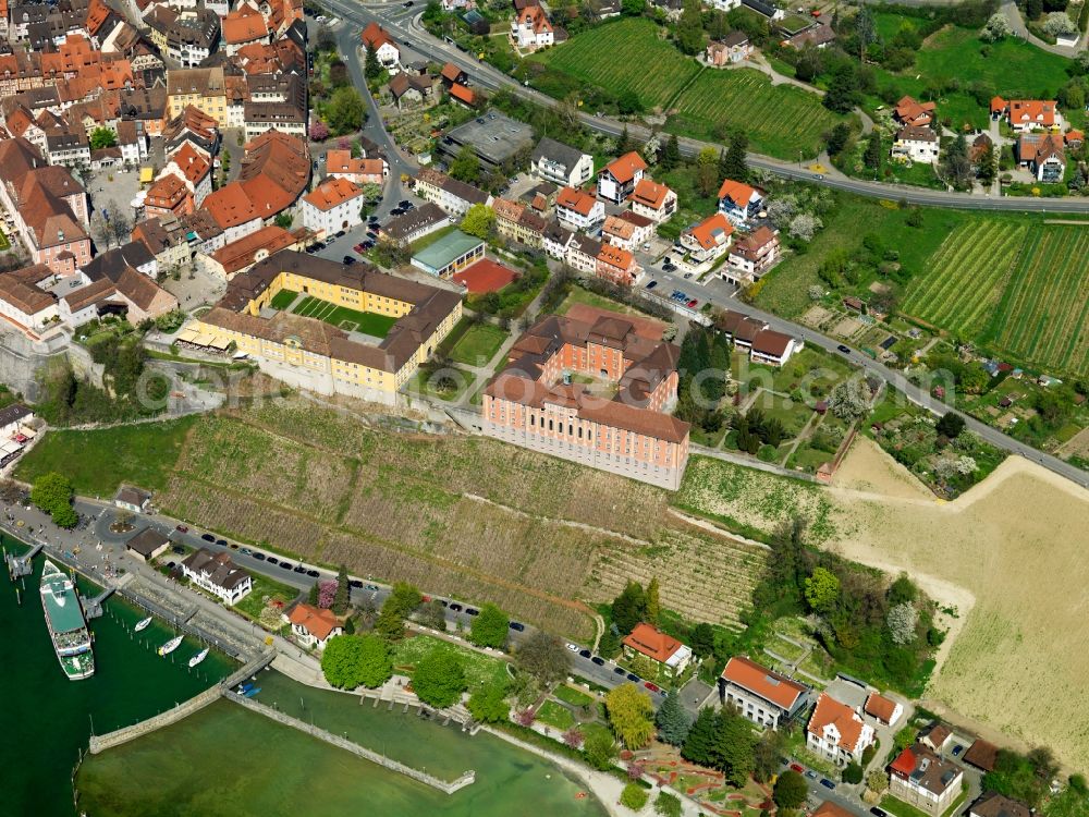
[[549, 66], [612, 94], [632, 90], [647, 108], [665, 105], [699, 64], [658, 36], [649, 20], [621, 20], [573, 37], [541, 56]]

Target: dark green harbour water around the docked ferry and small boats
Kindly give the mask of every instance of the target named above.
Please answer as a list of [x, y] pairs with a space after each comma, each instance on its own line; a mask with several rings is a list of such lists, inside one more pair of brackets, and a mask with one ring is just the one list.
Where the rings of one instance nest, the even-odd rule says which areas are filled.
[[[8, 537], [0, 538], [9, 550], [16, 546]], [[24, 580], [22, 606], [7, 571], [0, 575], [0, 644], [4, 654], [0, 672], [0, 699], [4, 702], [0, 815], [75, 814], [72, 769], [78, 752], [87, 748], [91, 721], [95, 731], [102, 733], [149, 718], [211, 686], [236, 666], [211, 654], [191, 671], [186, 664], [199, 645], [188, 638], [170, 658], [160, 658], [155, 648], [173, 631], [157, 622], [137, 634], [139, 641], [133, 639], [132, 627], [143, 615], [111, 598], [106, 602], [106, 614], [90, 622], [95, 675], [69, 681], [46, 631], [37, 592], [42, 563], [42, 557], [37, 557], [33, 575]], [[94, 595], [91, 585], [79, 584], [85, 595]]]

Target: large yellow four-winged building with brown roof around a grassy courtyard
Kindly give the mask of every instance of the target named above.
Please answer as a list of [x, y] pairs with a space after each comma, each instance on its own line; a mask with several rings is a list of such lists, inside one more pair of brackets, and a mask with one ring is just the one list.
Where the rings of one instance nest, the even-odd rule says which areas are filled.
[[[284, 290], [397, 321], [374, 343], [323, 320], [273, 309], [272, 300]], [[461, 297], [449, 290], [283, 251], [235, 276], [223, 298], [180, 340], [220, 350], [234, 343], [291, 386], [393, 403], [461, 316]]]

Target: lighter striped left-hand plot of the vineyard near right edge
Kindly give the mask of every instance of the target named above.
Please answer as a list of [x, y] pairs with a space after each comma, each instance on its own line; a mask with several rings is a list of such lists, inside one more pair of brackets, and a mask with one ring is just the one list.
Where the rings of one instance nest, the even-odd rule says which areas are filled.
[[1025, 224], [1000, 219], [957, 228], [911, 283], [904, 312], [960, 337], [977, 337], [998, 306], [1027, 232]]

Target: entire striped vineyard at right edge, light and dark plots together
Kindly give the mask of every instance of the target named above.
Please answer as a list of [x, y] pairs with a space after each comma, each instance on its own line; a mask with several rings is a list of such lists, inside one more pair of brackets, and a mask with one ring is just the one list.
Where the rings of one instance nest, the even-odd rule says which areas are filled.
[[984, 218], [954, 230], [904, 312], [1049, 370], [1089, 373], [1089, 231]]

